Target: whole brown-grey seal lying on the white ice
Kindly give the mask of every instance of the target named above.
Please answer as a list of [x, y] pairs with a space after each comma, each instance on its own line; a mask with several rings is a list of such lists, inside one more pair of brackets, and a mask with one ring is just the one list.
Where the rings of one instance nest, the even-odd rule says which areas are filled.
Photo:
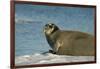
[[58, 55], [93, 56], [95, 55], [94, 37], [80, 31], [64, 31], [53, 23], [44, 26], [46, 40]]

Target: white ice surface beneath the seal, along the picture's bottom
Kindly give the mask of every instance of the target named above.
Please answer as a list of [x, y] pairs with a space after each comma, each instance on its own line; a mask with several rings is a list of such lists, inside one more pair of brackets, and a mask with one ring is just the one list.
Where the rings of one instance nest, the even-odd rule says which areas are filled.
[[69, 56], [47, 54], [24, 55], [15, 58], [16, 65], [31, 65], [31, 64], [50, 64], [50, 63], [68, 63], [68, 62], [84, 62], [94, 61], [94, 56]]

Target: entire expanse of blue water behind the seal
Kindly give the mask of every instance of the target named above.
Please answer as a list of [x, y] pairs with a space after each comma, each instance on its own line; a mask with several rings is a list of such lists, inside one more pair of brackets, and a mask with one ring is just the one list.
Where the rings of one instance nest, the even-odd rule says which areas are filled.
[[15, 5], [15, 55], [43, 53], [50, 49], [43, 27], [55, 23], [62, 30], [94, 35], [94, 8]]

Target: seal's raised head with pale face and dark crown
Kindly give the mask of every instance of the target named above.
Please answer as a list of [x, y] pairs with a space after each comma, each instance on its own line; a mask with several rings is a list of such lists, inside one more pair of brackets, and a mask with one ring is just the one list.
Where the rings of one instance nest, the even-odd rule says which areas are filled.
[[57, 30], [59, 30], [59, 28], [53, 23], [49, 23], [44, 26], [44, 33], [46, 35], [51, 35], [53, 32]]

